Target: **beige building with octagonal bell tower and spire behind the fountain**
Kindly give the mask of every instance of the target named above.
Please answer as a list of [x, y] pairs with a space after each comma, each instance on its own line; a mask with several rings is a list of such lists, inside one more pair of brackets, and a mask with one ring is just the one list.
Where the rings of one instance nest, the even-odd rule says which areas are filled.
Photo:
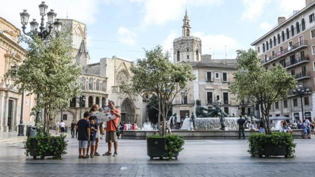
[[[238, 102], [229, 92], [228, 82], [232, 81], [237, 70], [236, 60], [214, 60], [211, 55], [202, 55], [201, 39], [191, 36], [190, 20], [186, 14], [183, 19], [182, 37], [174, 39], [174, 63], [185, 63], [192, 66], [197, 77], [188, 82], [188, 93], [179, 93], [173, 101], [173, 113], [181, 119], [191, 115], [196, 109], [196, 100], [200, 99], [203, 107], [212, 108], [214, 103], [221, 102], [221, 109], [228, 115], [239, 115]], [[243, 105], [247, 109], [247, 105]], [[252, 107], [249, 106], [251, 109]], [[248, 110], [248, 109], [247, 109]]]

